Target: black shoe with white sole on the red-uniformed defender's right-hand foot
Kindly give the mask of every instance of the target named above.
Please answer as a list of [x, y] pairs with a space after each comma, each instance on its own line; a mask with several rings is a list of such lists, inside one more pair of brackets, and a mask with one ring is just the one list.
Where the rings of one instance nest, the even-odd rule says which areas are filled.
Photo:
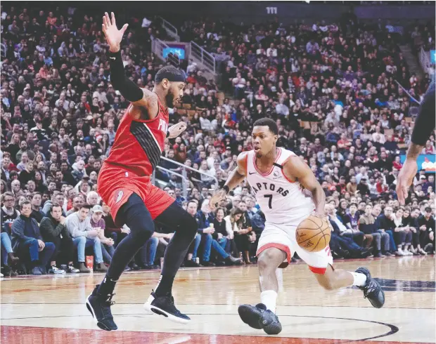
[[156, 296], [155, 292], [152, 291], [147, 302], [144, 303], [144, 310], [148, 313], [163, 315], [169, 320], [181, 324], [187, 324], [191, 321], [190, 317], [184, 315], [176, 308], [174, 305], [174, 298], [170, 293], [166, 296]]

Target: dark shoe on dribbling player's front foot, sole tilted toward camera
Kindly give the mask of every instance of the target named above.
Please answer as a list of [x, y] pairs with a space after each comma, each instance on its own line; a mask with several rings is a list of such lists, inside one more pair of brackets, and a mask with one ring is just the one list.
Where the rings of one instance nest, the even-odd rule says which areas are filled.
[[252, 305], [240, 305], [238, 307], [239, 317], [253, 329], [263, 329], [267, 334], [278, 334], [281, 332], [281, 324], [277, 315], [263, 303]]

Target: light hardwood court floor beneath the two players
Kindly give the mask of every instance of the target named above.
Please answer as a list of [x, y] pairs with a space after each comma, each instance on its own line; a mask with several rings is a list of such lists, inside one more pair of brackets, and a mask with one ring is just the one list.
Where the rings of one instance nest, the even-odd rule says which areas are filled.
[[113, 314], [119, 331], [98, 330], [84, 300], [103, 274], [4, 278], [2, 343], [435, 343], [435, 257], [335, 261], [350, 271], [364, 265], [380, 278], [385, 306], [373, 308], [358, 289], [324, 291], [307, 265], [283, 272], [278, 336], [251, 329], [241, 303], [258, 303], [257, 266], [184, 269], [174, 298], [187, 325], [147, 315], [143, 303], [159, 271], [127, 272], [117, 285]]

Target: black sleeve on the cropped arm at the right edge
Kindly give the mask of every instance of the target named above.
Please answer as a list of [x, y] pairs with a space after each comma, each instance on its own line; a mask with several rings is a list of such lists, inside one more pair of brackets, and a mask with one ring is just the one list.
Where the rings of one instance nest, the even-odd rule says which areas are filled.
[[432, 82], [424, 95], [413, 127], [412, 143], [423, 146], [435, 129], [435, 83]]

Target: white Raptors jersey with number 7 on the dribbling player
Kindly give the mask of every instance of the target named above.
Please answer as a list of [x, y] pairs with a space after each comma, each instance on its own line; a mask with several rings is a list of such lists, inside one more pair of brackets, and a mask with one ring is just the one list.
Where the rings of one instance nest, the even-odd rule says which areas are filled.
[[269, 223], [297, 226], [315, 209], [312, 193], [283, 173], [283, 164], [292, 156], [296, 156], [294, 152], [277, 147], [274, 165], [262, 173], [256, 166], [255, 151], [248, 152], [247, 180]]

